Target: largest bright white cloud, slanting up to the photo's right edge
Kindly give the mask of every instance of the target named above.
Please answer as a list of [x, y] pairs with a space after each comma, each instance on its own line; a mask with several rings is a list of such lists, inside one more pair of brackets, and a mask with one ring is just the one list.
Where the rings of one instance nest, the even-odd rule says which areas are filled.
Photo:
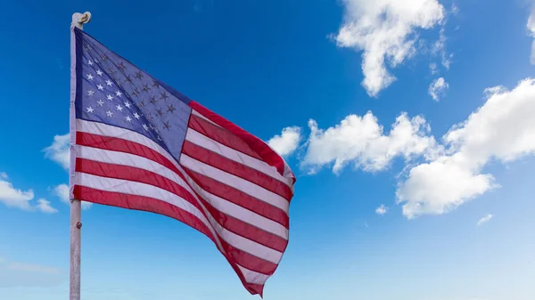
[[413, 167], [399, 183], [397, 201], [408, 218], [447, 213], [497, 188], [492, 174], [481, 174], [491, 158], [506, 163], [535, 153], [535, 79], [485, 94], [485, 104], [444, 135], [445, 154]]

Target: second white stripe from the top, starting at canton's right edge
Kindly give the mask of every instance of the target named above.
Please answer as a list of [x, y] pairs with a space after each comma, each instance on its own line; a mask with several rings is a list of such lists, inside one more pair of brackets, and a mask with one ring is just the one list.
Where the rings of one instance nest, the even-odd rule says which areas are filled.
[[288, 187], [290, 187], [290, 189], [292, 189], [293, 193], [292, 179], [279, 174], [275, 166], [269, 166], [265, 161], [259, 160], [258, 158], [253, 158], [243, 152], [227, 147], [220, 142], [216, 142], [210, 139], [210, 137], [197, 132], [193, 128], [187, 128], [185, 140], [188, 142], [193, 142], [195, 145], [204, 149], [216, 152], [225, 158], [234, 160], [237, 163], [249, 166], [259, 172], [262, 172], [263, 174], [267, 174], [268, 176], [286, 184]]

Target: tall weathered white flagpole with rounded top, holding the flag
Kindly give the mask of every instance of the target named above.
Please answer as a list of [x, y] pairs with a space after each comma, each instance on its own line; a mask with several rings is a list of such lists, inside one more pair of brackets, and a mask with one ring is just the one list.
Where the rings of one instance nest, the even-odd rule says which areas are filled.
[[80, 200], [74, 199], [72, 191], [75, 160], [73, 150], [76, 134], [74, 128], [74, 101], [76, 96], [76, 39], [74, 28], [83, 29], [84, 24], [90, 20], [90, 12], [75, 12], [72, 14], [72, 23], [70, 24], [70, 300], [80, 300], [80, 231], [82, 228], [82, 203]]

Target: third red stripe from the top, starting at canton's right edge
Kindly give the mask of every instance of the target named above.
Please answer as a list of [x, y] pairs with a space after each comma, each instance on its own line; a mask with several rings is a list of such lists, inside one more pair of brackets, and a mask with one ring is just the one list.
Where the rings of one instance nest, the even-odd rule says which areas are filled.
[[202, 146], [189, 141], [184, 142], [182, 151], [189, 157], [200, 160], [207, 165], [217, 167], [226, 173], [234, 174], [249, 182], [253, 182], [268, 191], [278, 194], [284, 199], [292, 199], [292, 191], [286, 184], [276, 180], [268, 174], [259, 172], [250, 166], [235, 162], [232, 159], [228, 159], [214, 151], [207, 150], [202, 148]]

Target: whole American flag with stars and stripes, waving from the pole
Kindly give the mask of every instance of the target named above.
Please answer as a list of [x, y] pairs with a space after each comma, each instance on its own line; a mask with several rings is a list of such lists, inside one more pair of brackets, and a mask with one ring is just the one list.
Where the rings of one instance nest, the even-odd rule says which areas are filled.
[[72, 30], [71, 198], [186, 223], [262, 296], [288, 244], [295, 177], [284, 158]]

